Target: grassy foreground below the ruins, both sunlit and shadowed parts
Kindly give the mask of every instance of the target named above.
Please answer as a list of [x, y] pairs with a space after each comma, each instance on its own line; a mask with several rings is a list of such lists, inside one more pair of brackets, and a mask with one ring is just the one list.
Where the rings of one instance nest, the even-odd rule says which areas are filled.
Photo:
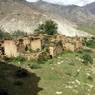
[[[95, 95], [95, 64], [84, 65], [84, 53], [91, 55], [95, 63], [95, 53], [91, 51], [64, 52], [42, 64], [16, 60], [1, 63], [0, 89], [9, 95]], [[26, 68], [30, 76], [16, 78], [19, 66]]]

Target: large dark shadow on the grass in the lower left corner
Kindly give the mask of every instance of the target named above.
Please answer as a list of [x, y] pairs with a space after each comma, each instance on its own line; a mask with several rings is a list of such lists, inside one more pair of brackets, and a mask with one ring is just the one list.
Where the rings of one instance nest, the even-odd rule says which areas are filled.
[[[25, 76], [16, 76], [18, 70]], [[26, 73], [25, 73], [26, 72]], [[40, 77], [15, 65], [0, 62], [0, 95], [38, 95]]]

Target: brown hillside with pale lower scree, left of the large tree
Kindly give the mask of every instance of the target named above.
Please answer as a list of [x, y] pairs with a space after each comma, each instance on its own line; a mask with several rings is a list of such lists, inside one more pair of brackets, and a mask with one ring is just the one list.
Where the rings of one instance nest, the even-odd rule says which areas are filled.
[[7, 32], [31, 32], [46, 19], [23, 0], [0, 0], [0, 26]]

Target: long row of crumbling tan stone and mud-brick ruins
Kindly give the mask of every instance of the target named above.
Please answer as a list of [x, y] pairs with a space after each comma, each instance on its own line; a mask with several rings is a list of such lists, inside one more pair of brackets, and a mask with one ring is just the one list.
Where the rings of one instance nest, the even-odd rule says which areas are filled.
[[[83, 47], [82, 38], [64, 35], [31, 35], [17, 40], [0, 41], [0, 56], [23, 56], [28, 60], [38, 59], [47, 48], [50, 58], [64, 51], [79, 51]], [[45, 53], [44, 53], [45, 54]]]

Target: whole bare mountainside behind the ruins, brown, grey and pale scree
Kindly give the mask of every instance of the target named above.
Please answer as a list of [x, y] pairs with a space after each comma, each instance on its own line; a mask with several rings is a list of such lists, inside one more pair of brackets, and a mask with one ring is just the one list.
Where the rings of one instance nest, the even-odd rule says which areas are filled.
[[28, 3], [24, 0], [0, 0], [0, 27], [6, 32], [17, 30], [33, 33], [39, 23], [53, 19], [58, 32], [67, 36], [87, 36], [75, 29], [77, 24], [93, 24], [94, 15], [78, 6], [60, 6], [46, 2]]

